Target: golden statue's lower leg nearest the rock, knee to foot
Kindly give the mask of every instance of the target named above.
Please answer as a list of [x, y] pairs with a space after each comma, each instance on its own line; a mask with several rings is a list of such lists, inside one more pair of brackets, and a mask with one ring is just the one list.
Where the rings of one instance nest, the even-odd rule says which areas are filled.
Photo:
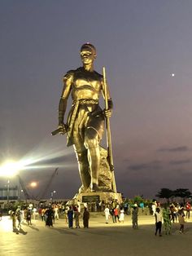
[[85, 147], [88, 153], [91, 190], [98, 191], [98, 170], [100, 166], [99, 136], [97, 130], [93, 127], [88, 127], [85, 130]]

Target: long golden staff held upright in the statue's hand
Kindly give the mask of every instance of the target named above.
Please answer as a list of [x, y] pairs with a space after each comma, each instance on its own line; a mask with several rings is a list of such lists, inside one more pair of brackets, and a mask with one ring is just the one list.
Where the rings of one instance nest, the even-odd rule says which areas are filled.
[[[104, 96], [105, 96], [105, 109], [108, 110], [109, 107], [108, 107], [108, 99], [107, 99], [107, 80], [106, 80], [105, 67], [103, 67], [103, 84], [104, 84]], [[113, 157], [112, 157], [111, 129], [110, 129], [109, 117], [106, 117], [106, 129], [107, 129], [108, 161], [109, 161], [109, 166], [112, 174], [112, 189], [114, 192], [116, 192], [116, 181], [115, 181]]]

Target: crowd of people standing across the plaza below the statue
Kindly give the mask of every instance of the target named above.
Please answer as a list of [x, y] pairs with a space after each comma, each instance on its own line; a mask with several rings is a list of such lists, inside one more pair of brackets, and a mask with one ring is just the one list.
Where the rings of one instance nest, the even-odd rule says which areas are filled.
[[[103, 213], [105, 216], [105, 222], [108, 223], [124, 223], [124, 216], [131, 215], [133, 229], [138, 229], [138, 216], [145, 214], [145, 205], [135, 202], [133, 205], [119, 204], [117, 201], [111, 201], [107, 204], [98, 203], [98, 212]], [[22, 223], [28, 226], [32, 225], [33, 219], [41, 219], [45, 223], [46, 227], [54, 227], [55, 220], [59, 218], [65, 219], [69, 228], [81, 228], [80, 218], [82, 219], [82, 226], [84, 228], [89, 227], [89, 211], [92, 210], [92, 204], [76, 202], [74, 205], [62, 205], [59, 203], [52, 203], [48, 206], [39, 205], [34, 207], [33, 204], [29, 204], [25, 207], [17, 207], [16, 210], [11, 210], [10, 215], [12, 218], [13, 231], [20, 229]], [[128, 210], [128, 208], [130, 208]], [[172, 233], [172, 225], [179, 223], [179, 232], [182, 234], [185, 232], [185, 219], [190, 218], [191, 205], [187, 201], [184, 204], [164, 204], [160, 205], [159, 202], [154, 201], [149, 209], [151, 215], [155, 219], [155, 236], [162, 236], [162, 226], [164, 227], [164, 233], [169, 235]]]

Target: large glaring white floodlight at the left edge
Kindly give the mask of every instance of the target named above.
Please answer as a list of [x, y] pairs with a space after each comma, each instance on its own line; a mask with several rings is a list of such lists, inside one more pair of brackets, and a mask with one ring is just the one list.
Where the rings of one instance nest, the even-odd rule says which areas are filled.
[[15, 161], [7, 161], [0, 166], [0, 176], [11, 177], [15, 176], [20, 170], [20, 165]]

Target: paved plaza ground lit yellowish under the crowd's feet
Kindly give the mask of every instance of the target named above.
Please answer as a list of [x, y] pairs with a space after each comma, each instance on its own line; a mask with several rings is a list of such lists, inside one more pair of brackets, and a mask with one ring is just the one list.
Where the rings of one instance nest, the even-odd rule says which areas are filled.
[[[110, 220], [111, 221], [111, 220]], [[185, 223], [185, 234], [179, 234], [179, 224], [172, 227], [172, 235], [155, 236], [153, 216], [140, 216], [139, 228], [133, 230], [131, 217], [124, 223], [105, 223], [102, 214], [91, 215], [89, 229], [68, 229], [64, 219], [55, 227], [45, 227], [41, 220], [25, 223], [12, 232], [11, 219], [0, 221], [0, 256], [183, 256], [192, 251], [192, 222]], [[82, 227], [82, 224], [81, 224]]]

